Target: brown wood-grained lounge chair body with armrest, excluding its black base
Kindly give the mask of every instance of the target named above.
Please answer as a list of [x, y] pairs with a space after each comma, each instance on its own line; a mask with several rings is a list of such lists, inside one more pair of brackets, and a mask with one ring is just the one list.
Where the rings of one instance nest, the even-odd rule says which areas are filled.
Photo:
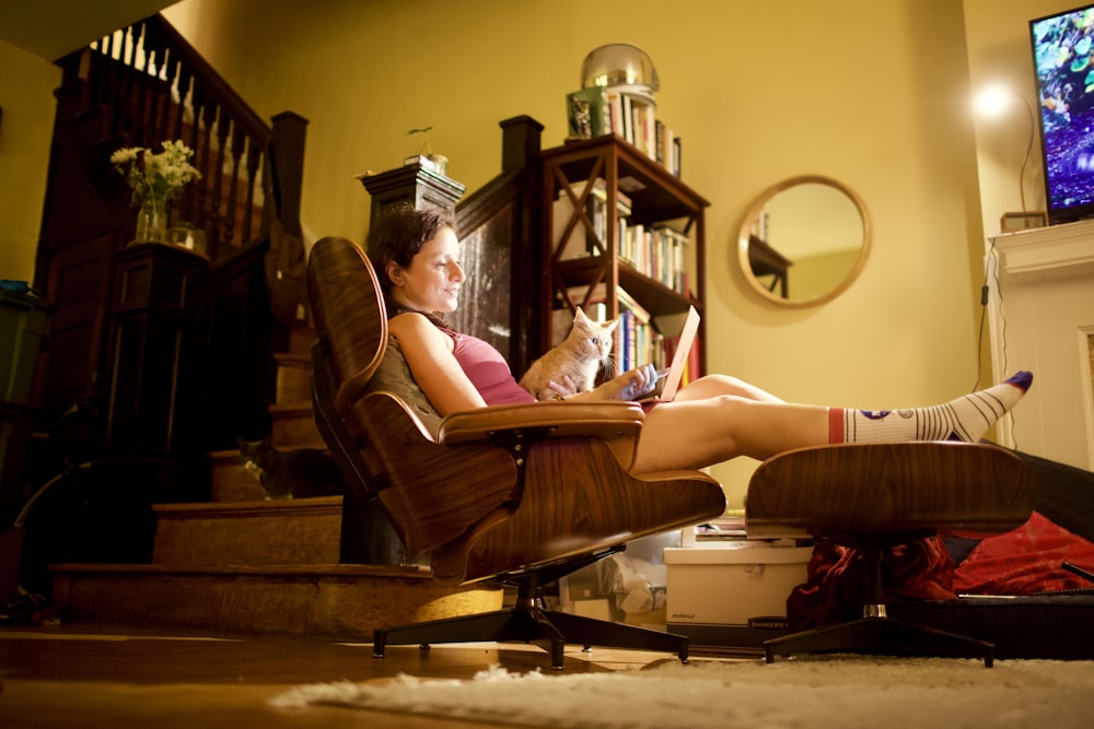
[[337, 413], [399, 538], [431, 551], [437, 579], [521, 574], [722, 514], [698, 471], [627, 471], [644, 414], [633, 403], [535, 403], [450, 415], [434, 439], [392, 392], [366, 391], [387, 322], [375, 273], [346, 238], [309, 260], [309, 292]]

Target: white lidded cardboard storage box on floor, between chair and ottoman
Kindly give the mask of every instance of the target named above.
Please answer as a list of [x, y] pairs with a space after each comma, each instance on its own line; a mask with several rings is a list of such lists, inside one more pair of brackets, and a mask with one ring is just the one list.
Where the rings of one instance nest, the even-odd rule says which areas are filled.
[[666, 628], [695, 647], [756, 652], [787, 634], [787, 598], [805, 583], [812, 546], [726, 542], [666, 549]]

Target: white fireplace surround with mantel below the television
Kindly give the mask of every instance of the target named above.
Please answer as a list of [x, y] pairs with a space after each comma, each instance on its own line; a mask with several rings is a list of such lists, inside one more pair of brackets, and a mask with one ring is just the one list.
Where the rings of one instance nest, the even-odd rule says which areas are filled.
[[1094, 470], [1094, 221], [991, 237], [985, 266], [996, 379], [1034, 373], [999, 440]]

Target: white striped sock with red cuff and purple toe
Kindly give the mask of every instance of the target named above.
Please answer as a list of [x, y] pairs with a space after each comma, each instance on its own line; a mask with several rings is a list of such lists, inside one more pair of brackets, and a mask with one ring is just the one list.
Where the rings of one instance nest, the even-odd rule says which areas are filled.
[[962, 440], [976, 443], [1010, 412], [1033, 384], [1020, 372], [985, 390], [930, 408], [911, 410], [828, 410], [828, 443]]

